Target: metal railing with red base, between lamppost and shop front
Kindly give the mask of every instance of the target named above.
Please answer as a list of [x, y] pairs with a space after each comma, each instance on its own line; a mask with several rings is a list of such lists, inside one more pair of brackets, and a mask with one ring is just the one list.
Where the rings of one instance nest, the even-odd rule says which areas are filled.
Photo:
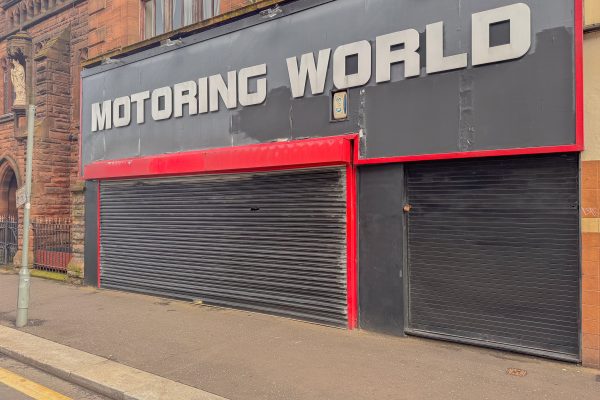
[[67, 272], [73, 252], [71, 221], [68, 219], [34, 219], [33, 268]]

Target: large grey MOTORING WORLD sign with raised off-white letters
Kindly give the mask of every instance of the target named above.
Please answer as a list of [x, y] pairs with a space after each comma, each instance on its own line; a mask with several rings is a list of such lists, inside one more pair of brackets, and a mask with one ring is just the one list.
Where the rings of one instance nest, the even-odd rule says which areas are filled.
[[283, 10], [84, 72], [83, 162], [343, 133], [363, 158], [575, 145], [571, 0]]

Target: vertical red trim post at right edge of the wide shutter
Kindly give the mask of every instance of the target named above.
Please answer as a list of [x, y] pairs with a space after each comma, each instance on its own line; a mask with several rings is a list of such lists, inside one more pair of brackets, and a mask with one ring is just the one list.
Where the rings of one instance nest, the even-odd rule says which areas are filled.
[[[357, 142], [354, 143], [358, 145]], [[346, 166], [346, 236], [347, 236], [347, 301], [348, 301], [348, 329], [355, 329], [358, 320], [358, 270], [356, 261], [356, 167]]]

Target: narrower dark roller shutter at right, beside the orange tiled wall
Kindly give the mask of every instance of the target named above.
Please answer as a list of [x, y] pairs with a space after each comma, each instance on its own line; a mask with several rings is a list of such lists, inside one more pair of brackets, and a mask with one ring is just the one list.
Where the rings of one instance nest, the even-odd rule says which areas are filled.
[[578, 155], [407, 171], [410, 332], [577, 360]]

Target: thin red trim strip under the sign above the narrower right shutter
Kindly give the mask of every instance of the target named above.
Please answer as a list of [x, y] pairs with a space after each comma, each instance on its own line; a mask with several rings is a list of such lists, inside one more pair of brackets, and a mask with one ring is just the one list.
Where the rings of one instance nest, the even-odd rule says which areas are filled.
[[530, 147], [530, 148], [522, 148], [522, 149], [480, 150], [480, 151], [464, 151], [464, 152], [456, 152], [456, 153], [419, 154], [416, 156], [398, 156], [398, 157], [355, 159], [355, 164], [370, 165], [370, 164], [389, 164], [389, 163], [397, 163], [397, 162], [447, 160], [447, 159], [457, 159], [457, 158], [517, 156], [517, 155], [524, 155], [524, 154], [569, 153], [569, 152], [579, 152], [582, 150], [583, 150], [583, 147], [581, 147], [580, 145], [571, 144], [571, 145], [565, 145], [565, 146]]

